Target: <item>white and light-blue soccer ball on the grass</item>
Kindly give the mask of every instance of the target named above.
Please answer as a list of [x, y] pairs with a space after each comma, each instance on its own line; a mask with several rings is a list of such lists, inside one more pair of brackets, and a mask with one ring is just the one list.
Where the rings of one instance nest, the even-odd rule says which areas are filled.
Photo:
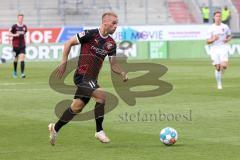
[[173, 145], [178, 139], [177, 131], [171, 127], [163, 128], [160, 132], [160, 140], [165, 145]]

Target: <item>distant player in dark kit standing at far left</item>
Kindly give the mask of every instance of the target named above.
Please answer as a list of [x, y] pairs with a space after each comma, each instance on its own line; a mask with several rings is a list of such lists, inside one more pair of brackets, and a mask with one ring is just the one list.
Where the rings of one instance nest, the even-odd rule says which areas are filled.
[[13, 61], [13, 77], [17, 78], [17, 63], [18, 59], [21, 63], [21, 78], [25, 78], [25, 34], [27, 33], [27, 26], [23, 24], [23, 14], [18, 14], [18, 23], [14, 24], [9, 30], [9, 36], [12, 38], [13, 51], [15, 53]]

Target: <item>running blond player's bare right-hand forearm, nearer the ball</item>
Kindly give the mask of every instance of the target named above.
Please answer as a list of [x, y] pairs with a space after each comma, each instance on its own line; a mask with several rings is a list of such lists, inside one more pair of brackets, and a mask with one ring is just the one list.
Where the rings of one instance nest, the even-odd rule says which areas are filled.
[[116, 57], [115, 56], [111, 56], [109, 57], [109, 62], [111, 65], [111, 70], [122, 76], [123, 81], [126, 82], [128, 80], [128, 75], [127, 73], [120, 67], [120, 65], [117, 63]]

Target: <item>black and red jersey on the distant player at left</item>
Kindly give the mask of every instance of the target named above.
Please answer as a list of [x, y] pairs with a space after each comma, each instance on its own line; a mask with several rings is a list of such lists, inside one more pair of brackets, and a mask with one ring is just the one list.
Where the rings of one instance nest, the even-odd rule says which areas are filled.
[[26, 25], [14, 24], [10, 28], [10, 32], [13, 34], [16, 34], [16, 33], [19, 34], [18, 37], [13, 37], [12, 45], [14, 48], [22, 48], [26, 46], [26, 41], [25, 41], [25, 34], [27, 33]]

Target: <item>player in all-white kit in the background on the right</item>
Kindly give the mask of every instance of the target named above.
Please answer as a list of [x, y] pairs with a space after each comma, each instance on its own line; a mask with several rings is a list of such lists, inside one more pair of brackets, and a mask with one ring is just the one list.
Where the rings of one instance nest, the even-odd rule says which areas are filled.
[[217, 88], [222, 89], [222, 73], [228, 66], [228, 42], [231, 40], [231, 30], [222, 23], [221, 12], [214, 12], [214, 23], [208, 30], [207, 43], [210, 45], [210, 55], [215, 66]]

